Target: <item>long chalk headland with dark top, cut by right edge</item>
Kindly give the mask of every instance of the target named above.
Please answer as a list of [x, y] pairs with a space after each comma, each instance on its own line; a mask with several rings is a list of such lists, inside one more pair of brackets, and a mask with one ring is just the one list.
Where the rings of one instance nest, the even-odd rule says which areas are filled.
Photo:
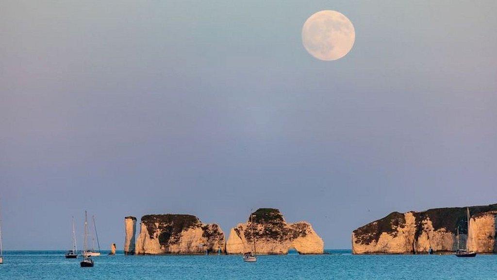
[[[480, 253], [496, 250], [497, 204], [469, 207], [468, 246]], [[435, 253], [457, 249], [457, 228], [460, 247], [466, 247], [468, 225], [466, 207], [436, 208], [423, 212], [393, 212], [352, 232], [354, 254], [417, 254], [433, 248]]]

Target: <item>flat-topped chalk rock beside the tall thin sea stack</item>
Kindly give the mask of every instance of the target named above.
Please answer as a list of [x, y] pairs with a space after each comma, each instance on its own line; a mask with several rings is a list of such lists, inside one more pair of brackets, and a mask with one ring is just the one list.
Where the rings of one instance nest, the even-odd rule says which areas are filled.
[[192, 215], [142, 217], [136, 254], [205, 254], [225, 252], [224, 233], [217, 224], [204, 224]]

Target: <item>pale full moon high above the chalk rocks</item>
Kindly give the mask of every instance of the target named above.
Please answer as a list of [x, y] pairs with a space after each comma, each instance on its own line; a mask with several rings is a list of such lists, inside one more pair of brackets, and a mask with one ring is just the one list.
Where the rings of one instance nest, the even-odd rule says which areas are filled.
[[302, 27], [302, 43], [317, 59], [337, 60], [344, 57], [355, 41], [352, 22], [334, 10], [311, 15]]

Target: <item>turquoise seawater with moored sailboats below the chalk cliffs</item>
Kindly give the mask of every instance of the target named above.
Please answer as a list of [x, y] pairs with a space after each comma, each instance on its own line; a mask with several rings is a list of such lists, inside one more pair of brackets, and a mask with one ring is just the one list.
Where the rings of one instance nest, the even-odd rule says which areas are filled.
[[62, 251], [4, 254], [0, 279], [161, 280], [161, 279], [497, 279], [497, 255], [460, 259], [452, 255], [356, 256], [346, 250], [330, 255], [94, 257], [93, 268], [80, 268], [81, 257], [66, 260]]

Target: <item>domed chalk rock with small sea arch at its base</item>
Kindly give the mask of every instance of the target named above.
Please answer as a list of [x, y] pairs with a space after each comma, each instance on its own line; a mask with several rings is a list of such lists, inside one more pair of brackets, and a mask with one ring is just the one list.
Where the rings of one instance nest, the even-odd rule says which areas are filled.
[[[261, 208], [253, 212], [256, 254], [287, 254], [294, 248], [300, 254], [323, 254], [323, 240], [307, 222], [287, 223], [278, 209]], [[226, 244], [228, 254], [253, 252], [250, 217], [232, 228]]]

